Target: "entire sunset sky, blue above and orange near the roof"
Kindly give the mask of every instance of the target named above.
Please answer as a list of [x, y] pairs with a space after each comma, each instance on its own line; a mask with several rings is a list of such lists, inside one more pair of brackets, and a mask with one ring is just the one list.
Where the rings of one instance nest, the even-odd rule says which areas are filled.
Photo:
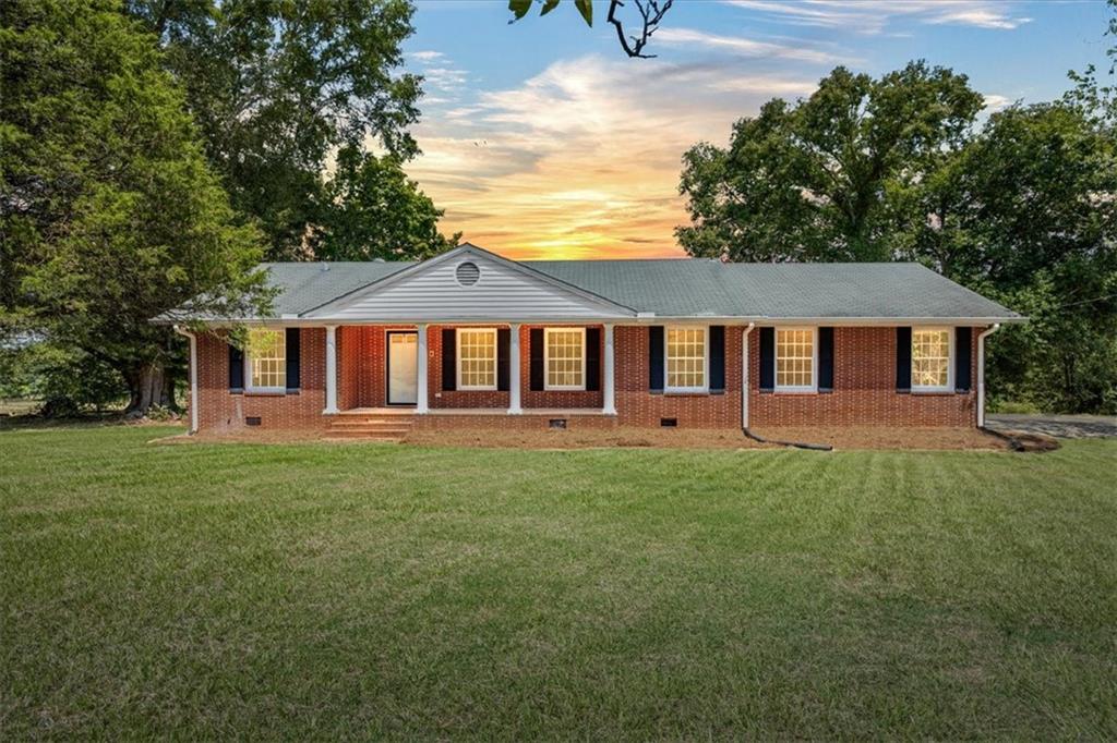
[[987, 110], [1046, 100], [1069, 69], [1108, 69], [1091, 2], [677, 0], [629, 59], [596, 3], [515, 25], [507, 2], [419, 0], [408, 67], [426, 77], [409, 174], [441, 229], [514, 258], [680, 257], [679, 158], [724, 145], [772, 97], [837, 65], [879, 75], [925, 58], [970, 76]]

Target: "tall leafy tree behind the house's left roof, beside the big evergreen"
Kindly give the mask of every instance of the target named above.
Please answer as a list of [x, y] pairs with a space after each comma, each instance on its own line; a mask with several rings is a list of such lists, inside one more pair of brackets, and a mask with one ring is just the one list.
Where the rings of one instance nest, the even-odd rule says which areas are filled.
[[[370, 165], [360, 185], [327, 174], [338, 151], [367, 161], [379, 149], [397, 164], [417, 153], [408, 126], [419, 116], [421, 78], [402, 71], [400, 51], [412, 32], [408, 0], [125, 0], [125, 7], [159, 37], [210, 163], [233, 208], [258, 220], [269, 259], [361, 254], [382, 239], [365, 219], [373, 206], [359, 200], [370, 190], [392, 191], [392, 210], [422, 212], [423, 230], [440, 216], [413, 182], [398, 187], [391, 168]], [[376, 176], [385, 181], [374, 185]], [[354, 215], [342, 215], [346, 210]], [[327, 222], [338, 221], [351, 228], [349, 244], [322, 245], [340, 234]], [[398, 237], [402, 247], [429, 244], [426, 233]]]

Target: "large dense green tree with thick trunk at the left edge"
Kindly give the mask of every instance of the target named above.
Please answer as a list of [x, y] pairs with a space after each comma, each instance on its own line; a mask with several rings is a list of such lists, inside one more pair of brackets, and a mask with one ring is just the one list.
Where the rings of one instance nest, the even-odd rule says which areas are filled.
[[149, 320], [195, 296], [203, 311], [264, 308], [261, 235], [235, 218], [154, 38], [117, 2], [7, 0], [0, 39], [3, 347], [112, 370], [133, 411], [172, 404], [182, 344]]

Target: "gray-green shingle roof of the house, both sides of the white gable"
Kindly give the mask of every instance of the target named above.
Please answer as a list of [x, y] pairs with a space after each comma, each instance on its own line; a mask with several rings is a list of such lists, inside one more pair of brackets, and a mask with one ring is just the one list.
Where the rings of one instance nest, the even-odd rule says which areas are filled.
[[[960, 319], [1020, 316], [918, 263], [522, 261], [640, 313], [665, 318]], [[413, 262], [265, 263], [276, 316], [309, 312]], [[165, 318], [164, 318], [165, 319]]]

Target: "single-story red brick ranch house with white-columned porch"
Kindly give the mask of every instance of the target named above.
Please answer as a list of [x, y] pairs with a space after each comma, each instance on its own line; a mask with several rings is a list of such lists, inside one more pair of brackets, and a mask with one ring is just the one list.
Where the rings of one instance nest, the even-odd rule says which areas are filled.
[[[273, 316], [179, 328], [192, 433], [982, 426], [985, 337], [1023, 320], [914, 263], [513, 261], [467, 243], [266, 269]], [[244, 348], [226, 337], [241, 324]]]

